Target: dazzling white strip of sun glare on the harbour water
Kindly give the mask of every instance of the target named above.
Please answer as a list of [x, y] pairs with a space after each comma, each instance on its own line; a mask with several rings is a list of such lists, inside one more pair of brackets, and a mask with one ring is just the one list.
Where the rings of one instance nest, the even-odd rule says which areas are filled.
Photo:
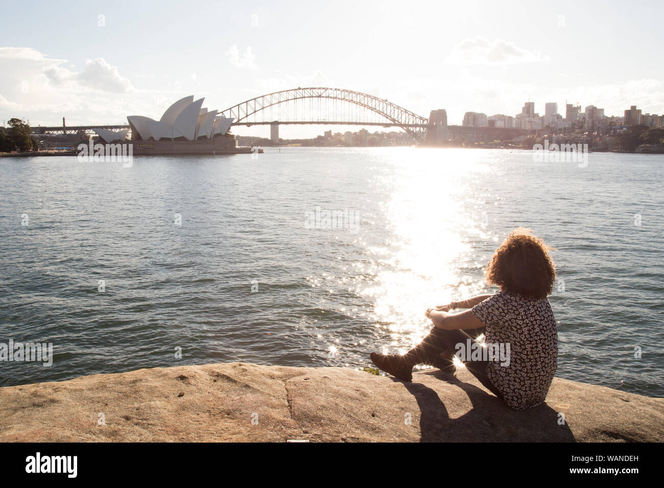
[[408, 346], [430, 329], [428, 307], [449, 303], [479, 289], [459, 263], [470, 262], [463, 236], [481, 234], [481, 224], [463, 210], [463, 185], [487, 171], [476, 151], [414, 149], [394, 155], [383, 205], [391, 242], [371, 249], [376, 280], [363, 293], [374, 298], [373, 319], [388, 327], [392, 347]]

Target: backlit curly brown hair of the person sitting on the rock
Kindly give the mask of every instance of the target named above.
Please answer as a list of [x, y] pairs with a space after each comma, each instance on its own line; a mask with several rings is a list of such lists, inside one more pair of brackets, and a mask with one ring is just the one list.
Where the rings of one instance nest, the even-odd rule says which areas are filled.
[[556, 268], [549, 256], [554, 250], [533, 231], [519, 227], [507, 236], [487, 264], [486, 280], [502, 291], [540, 299], [553, 289]]

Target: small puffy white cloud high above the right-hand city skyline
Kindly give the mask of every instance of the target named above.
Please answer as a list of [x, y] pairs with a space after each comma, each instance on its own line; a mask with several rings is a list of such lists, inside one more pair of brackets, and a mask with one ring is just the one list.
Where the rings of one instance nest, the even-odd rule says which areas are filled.
[[503, 39], [488, 41], [483, 37], [475, 37], [456, 44], [446, 61], [450, 64], [500, 65], [548, 61], [548, 56], [542, 56], [539, 51], [519, 48]]

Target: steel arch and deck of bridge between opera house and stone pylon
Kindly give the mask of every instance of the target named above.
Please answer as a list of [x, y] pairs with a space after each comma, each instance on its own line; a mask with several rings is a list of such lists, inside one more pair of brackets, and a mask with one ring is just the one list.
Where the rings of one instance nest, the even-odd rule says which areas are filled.
[[401, 127], [420, 142], [426, 139], [428, 126], [428, 119], [384, 98], [325, 87], [298, 87], [261, 95], [220, 115], [234, 118], [232, 125], [247, 126], [320, 123]]

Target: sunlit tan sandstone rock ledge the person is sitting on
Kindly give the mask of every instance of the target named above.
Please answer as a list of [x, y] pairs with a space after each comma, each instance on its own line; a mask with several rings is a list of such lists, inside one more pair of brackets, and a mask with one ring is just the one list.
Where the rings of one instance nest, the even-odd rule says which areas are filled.
[[413, 381], [214, 363], [0, 388], [1, 442], [662, 442], [664, 398], [554, 378], [516, 411], [467, 370]]

